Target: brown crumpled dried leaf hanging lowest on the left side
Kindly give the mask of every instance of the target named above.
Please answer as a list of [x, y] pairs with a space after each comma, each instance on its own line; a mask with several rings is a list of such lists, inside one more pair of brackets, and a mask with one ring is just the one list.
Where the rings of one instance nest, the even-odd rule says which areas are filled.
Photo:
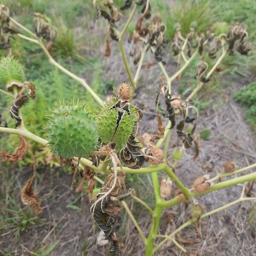
[[21, 190], [21, 201], [23, 204], [31, 205], [34, 211], [40, 214], [43, 209], [41, 208], [41, 201], [33, 191], [33, 181], [35, 174], [27, 181], [26, 185]]

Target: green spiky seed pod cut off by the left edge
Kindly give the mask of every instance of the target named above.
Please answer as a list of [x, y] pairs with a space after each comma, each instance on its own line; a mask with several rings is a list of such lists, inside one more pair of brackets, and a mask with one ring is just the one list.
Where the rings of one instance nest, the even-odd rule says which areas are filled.
[[0, 58], [0, 82], [9, 84], [10, 82], [23, 83], [25, 81], [24, 67], [20, 61], [13, 57]]

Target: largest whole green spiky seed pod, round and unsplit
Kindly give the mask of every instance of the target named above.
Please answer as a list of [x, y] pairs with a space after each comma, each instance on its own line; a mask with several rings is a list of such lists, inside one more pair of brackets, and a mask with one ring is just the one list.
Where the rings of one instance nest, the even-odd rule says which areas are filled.
[[62, 157], [85, 157], [98, 144], [95, 119], [84, 104], [56, 105], [47, 132], [52, 152]]

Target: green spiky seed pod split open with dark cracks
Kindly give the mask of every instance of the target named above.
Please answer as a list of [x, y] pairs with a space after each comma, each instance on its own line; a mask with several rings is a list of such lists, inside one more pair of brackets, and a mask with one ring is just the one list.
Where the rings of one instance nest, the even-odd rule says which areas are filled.
[[[103, 143], [116, 143], [118, 152], [127, 143], [130, 135], [134, 132], [135, 122], [137, 122], [136, 107], [130, 104], [130, 114], [124, 111], [124, 114], [117, 126], [118, 108], [110, 109], [118, 101], [117, 98], [106, 102], [105, 106], [96, 116], [99, 138]], [[121, 109], [122, 111], [122, 109]]]

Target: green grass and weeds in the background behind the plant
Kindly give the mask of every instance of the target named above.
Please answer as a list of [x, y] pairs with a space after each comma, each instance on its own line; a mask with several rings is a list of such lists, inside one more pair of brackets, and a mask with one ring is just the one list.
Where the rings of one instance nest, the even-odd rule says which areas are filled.
[[[117, 6], [121, 6], [124, 0], [114, 0]], [[248, 25], [250, 41], [255, 49], [256, 37], [256, 2], [254, 0], [236, 0], [236, 1], [174, 1], [175, 5], [168, 6], [167, 1], [151, 0], [151, 11], [160, 13], [163, 22], [167, 25], [167, 38], [172, 38], [175, 33], [175, 23], [180, 23], [183, 33], [189, 31], [191, 23], [196, 23], [197, 32], [206, 32], [207, 29], [218, 24], [226, 22], [232, 24], [235, 21], [245, 22]], [[12, 15], [29, 29], [32, 29], [32, 20], [34, 12], [41, 12], [51, 18], [52, 24], [57, 29], [57, 38], [52, 49], [52, 56], [64, 67], [72, 70], [73, 73], [83, 76], [91, 74], [86, 79], [100, 97], [111, 90], [115, 80], [103, 81], [103, 62], [98, 52], [100, 44], [104, 38], [93, 33], [87, 33], [88, 27], [93, 23], [96, 17], [96, 11], [89, 0], [3, 0], [3, 4], [9, 7]], [[128, 12], [128, 11], [127, 11]], [[102, 23], [105, 22], [102, 20]], [[104, 26], [104, 24], [103, 24]], [[133, 24], [130, 31], [133, 30]], [[217, 26], [218, 27], [218, 26]], [[81, 33], [80, 33], [80, 32]], [[92, 46], [95, 46], [93, 49]], [[16, 58], [26, 67], [26, 79], [36, 86], [37, 97], [35, 101], [29, 101], [23, 107], [23, 118], [29, 130], [38, 136], [44, 137], [46, 125], [46, 115], [49, 110], [59, 100], [65, 99], [70, 102], [77, 99], [81, 102], [87, 102], [92, 107], [96, 103], [86, 93], [83, 87], [79, 86], [65, 74], [61, 73], [55, 67], [51, 66], [41, 49], [21, 38], [12, 39], [12, 50]], [[93, 53], [91, 53], [91, 51]], [[6, 51], [1, 50], [0, 55], [6, 55]], [[179, 93], [185, 95], [195, 86], [193, 79], [195, 66], [199, 61], [195, 59], [187, 72], [180, 79]], [[226, 58], [224, 72], [233, 76], [247, 76], [250, 69], [255, 70], [255, 58], [237, 55], [236, 58]], [[206, 108], [212, 103], [212, 92], [218, 92], [222, 84], [214, 80], [206, 87], [203, 92], [204, 97], [200, 95], [195, 99], [195, 104], [199, 109]], [[4, 89], [3, 84], [0, 88]], [[246, 93], [247, 91], [247, 93]], [[206, 93], [205, 93], [206, 92]], [[208, 94], [207, 94], [208, 92]], [[248, 93], [249, 92], [249, 93]], [[248, 104], [247, 97], [256, 95], [256, 84], [250, 84], [244, 88], [241, 93], [236, 93], [234, 99], [247, 107], [247, 119], [252, 127], [256, 127], [256, 103], [252, 98]], [[13, 120], [9, 116], [9, 99], [3, 95], [0, 96], [0, 111], [9, 127], [14, 126]], [[17, 145], [17, 136], [4, 135], [0, 139], [4, 150], [13, 150]], [[6, 143], [11, 141], [12, 143]]]

